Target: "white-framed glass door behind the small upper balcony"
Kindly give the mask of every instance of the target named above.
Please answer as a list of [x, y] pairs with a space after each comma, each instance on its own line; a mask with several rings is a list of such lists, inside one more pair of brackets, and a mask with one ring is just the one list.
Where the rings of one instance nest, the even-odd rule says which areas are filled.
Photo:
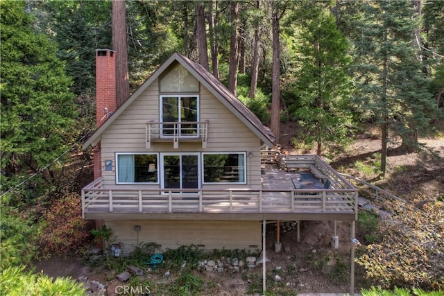
[[[198, 96], [160, 96], [162, 135], [197, 136]], [[191, 122], [191, 123], [187, 123]]]

